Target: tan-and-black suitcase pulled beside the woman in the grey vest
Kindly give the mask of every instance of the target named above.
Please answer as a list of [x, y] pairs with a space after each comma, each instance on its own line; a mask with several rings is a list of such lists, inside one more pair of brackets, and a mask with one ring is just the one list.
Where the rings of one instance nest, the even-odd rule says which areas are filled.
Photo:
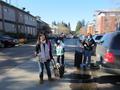
[[52, 62], [53, 72], [55, 77], [62, 78], [64, 75], [64, 66], [60, 65], [59, 63], [56, 63], [54, 59], [52, 59], [51, 62]]

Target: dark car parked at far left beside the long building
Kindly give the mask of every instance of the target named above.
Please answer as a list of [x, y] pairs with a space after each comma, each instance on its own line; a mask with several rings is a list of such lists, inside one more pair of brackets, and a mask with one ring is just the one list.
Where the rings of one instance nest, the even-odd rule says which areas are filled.
[[0, 36], [0, 47], [13, 47], [16, 45], [16, 40], [10, 36]]

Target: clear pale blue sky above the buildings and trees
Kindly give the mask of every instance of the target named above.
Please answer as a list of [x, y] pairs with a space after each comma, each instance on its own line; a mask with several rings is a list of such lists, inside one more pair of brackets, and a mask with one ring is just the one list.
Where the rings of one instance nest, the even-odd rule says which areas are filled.
[[78, 20], [91, 22], [95, 10], [120, 7], [120, 0], [11, 0], [11, 3], [19, 8], [26, 7], [26, 11], [49, 24], [52, 21], [70, 22], [72, 29]]

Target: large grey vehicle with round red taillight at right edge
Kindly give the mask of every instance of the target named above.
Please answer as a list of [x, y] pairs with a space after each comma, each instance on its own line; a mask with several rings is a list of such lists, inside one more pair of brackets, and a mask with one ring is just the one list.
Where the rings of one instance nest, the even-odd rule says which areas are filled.
[[96, 47], [96, 57], [102, 70], [120, 74], [120, 31], [102, 37]]

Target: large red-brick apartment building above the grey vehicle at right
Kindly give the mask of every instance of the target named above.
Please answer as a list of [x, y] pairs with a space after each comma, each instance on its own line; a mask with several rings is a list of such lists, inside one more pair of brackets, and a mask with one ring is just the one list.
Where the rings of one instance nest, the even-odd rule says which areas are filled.
[[96, 12], [96, 33], [114, 32], [120, 26], [120, 10]]

